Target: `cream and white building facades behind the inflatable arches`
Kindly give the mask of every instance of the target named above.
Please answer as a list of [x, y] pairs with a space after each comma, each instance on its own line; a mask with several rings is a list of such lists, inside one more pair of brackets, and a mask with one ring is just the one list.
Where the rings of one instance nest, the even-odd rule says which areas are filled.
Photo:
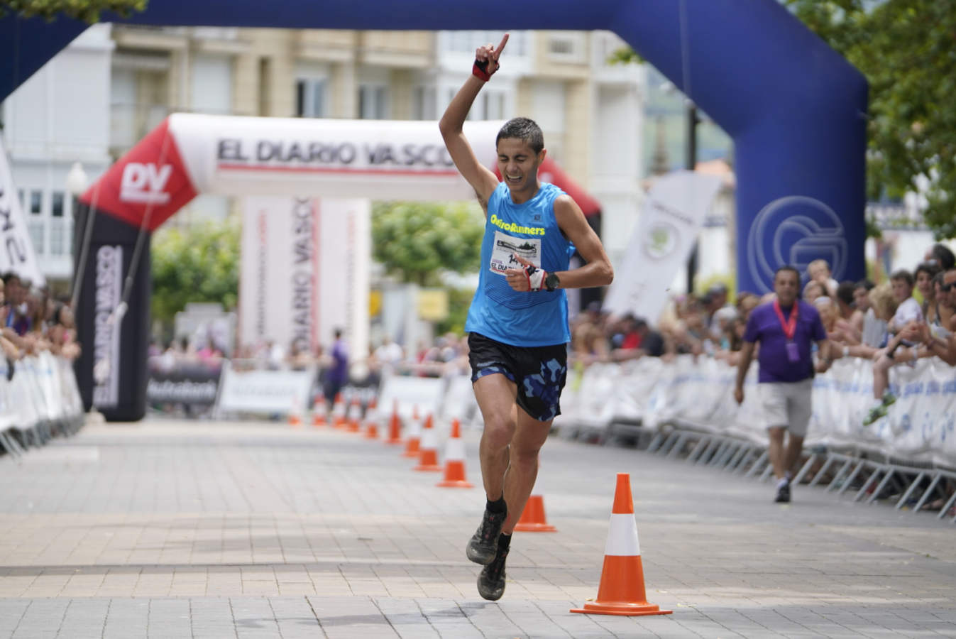
[[[497, 32], [362, 32], [97, 25], [0, 105], [14, 181], [41, 264], [69, 278], [66, 172], [91, 180], [174, 112], [437, 120]], [[610, 65], [609, 32], [511, 33], [471, 119], [538, 121], [551, 156], [602, 205], [619, 261], [641, 201], [641, 65]], [[170, 221], [222, 220], [201, 196]]]

